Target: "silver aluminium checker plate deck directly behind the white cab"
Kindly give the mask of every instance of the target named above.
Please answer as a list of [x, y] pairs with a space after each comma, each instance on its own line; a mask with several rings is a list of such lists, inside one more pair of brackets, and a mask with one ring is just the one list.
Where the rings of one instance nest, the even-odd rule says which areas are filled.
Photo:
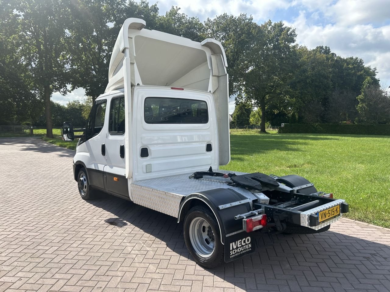
[[[217, 172], [229, 173], [223, 170]], [[193, 172], [135, 181], [130, 185], [133, 202], [177, 218], [183, 197], [215, 188], [232, 188], [224, 181], [188, 178], [191, 174]]]

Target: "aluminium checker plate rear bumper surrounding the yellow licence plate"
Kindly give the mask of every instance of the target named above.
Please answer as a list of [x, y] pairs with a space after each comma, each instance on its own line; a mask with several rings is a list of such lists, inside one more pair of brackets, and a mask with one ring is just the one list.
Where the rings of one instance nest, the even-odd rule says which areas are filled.
[[[340, 215], [333, 218], [333, 219], [330, 219], [324, 223], [319, 223], [318, 213], [321, 211], [324, 211], [326, 209], [335, 207], [337, 205], [340, 205]], [[348, 212], [348, 204], [345, 202], [345, 200], [338, 199], [338, 200], [329, 202], [327, 204], [321, 205], [319, 207], [301, 212], [300, 213], [301, 226], [309, 227], [309, 228], [314, 229], [314, 230], [319, 230], [327, 225], [330, 225], [332, 223], [339, 221], [340, 218], [342, 217], [342, 215], [344, 213], [347, 213], [347, 212]]]

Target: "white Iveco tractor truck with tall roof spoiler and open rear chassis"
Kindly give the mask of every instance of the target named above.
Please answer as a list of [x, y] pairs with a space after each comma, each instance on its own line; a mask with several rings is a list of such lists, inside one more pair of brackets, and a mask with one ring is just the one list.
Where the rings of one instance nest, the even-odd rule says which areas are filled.
[[102, 190], [176, 217], [207, 268], [254, 252], [255, 230], [322, 232], [348, 211], [300, 176], [220, 170], [230, 160], [222, 45], [144, 26], [126, 19], [86, 127], [62, 128], [64, 140], [80, 138], [73, 171], [83, 199]]

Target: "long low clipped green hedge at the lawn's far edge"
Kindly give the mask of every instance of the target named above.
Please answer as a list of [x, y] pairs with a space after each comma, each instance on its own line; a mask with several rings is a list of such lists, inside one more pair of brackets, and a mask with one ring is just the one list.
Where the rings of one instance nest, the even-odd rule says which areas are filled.
[[390, 135], [390, 124], [284, 124], [278, 133]]

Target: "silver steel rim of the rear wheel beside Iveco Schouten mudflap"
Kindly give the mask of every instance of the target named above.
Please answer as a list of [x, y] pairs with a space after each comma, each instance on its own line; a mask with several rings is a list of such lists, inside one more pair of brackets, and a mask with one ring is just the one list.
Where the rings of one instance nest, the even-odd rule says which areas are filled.
[[215, 236], [211, 225], [201, 217], [190, 223], [190, 241], [195, 252], [201, 257], [210, 257], [215, 250]]

